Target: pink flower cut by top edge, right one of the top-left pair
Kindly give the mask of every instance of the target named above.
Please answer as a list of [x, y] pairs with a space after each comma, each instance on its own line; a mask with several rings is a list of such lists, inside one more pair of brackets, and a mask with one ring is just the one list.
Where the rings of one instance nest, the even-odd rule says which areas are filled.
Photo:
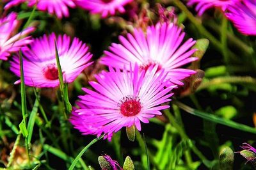
[[100, 13], [102, 17], [108, 14], [115, 15], [116, 11], [124, 13], [124, 6], [132, 0], [74, 0], [77, 6], [90, 11], [90, 13]]

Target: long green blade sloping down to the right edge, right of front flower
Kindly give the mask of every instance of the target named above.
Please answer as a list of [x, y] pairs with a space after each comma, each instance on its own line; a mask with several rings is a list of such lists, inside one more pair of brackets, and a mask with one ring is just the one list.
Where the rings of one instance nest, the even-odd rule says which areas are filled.
[[173, 101], [173, 104], [180, 107], [180, 109], [183, 109], [184, 111], [189, 112], [190, 114], [193, 114], [193, 115], [203, 118], [205, 120], [213, 121], [215, 123], [220, 123], [221, 125], [236, 128], [237, 130], [242, 130], [244, 132], [250, 132], [252, 134], [256, 134], [256, 128], [248, 127], [247, 125], [243, 125], [241, 123], [236, 123], [235, 121], [232, 121], [232, 120], [226, 120], [223, 118], [219, 118], [219, 117], [214, 116], [213, 114], [210, 114], [207, 112], [197, 111], [197, 110], [189, 107], [188, 105], [182, 104], [178, 101]]

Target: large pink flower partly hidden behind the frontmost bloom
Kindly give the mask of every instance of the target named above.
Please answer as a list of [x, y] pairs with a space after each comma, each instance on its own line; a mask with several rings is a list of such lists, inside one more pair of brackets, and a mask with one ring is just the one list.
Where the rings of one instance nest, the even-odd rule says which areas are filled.
[[119, 36], [120, 44], [112, 43], [109, 51], [104, 51], [102, 64], [114, 68], [128, 68], [129, 63], [138, 63], [141, 70], [147, 70], [150, 65], [158, 65], [168, 73], [166, 79], [172, 84], [182, 85], [180, 80], [195, 73], [194, 70], [180, 68], [197, 58], [191, 55], [196, 49], [190, 49], [194, 44], [192, 38], [182, 43], [185, 33], [178, 26], [157, 23], [147, 27], [147, 33], [134, 29], [133, 35], [127, 38]]

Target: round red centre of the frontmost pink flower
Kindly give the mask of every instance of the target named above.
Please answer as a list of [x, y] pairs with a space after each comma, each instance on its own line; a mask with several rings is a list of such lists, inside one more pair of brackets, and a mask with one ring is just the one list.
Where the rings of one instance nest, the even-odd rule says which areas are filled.
[[118, 105], [120, 107], [120, 112], [127, 117], [136, 116], [141, 111], [140, 99], [137, 97], [124, 97]]

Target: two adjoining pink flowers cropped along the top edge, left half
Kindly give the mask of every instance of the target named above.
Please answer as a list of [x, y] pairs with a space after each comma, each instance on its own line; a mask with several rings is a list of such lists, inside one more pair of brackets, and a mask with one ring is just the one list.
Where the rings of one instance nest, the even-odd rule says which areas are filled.
[[40, 11], [48, 11], [50, 14], [56, 14], [59, 19], [63, 16], [68, 17], [68, 7], [80, 7], [88, 10], [91, 13], [100, 13], [102, 17], [107, 17], [108, 14], [115, 15], [116, 10], [124, 13], [124, 5], [132, 0], [3, 0], [7, 2], [4, 10], [8, 10], [13, 6], [21, 3], [27, 3], [29, 7], [36, 6]]

